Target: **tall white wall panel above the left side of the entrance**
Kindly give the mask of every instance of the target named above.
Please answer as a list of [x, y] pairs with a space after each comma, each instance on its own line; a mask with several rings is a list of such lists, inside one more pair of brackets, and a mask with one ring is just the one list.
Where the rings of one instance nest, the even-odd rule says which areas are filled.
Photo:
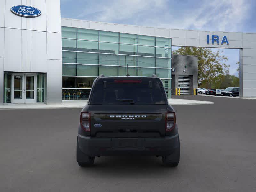
[[4, 30], [4, 71], [21, 71], [21, 29]]

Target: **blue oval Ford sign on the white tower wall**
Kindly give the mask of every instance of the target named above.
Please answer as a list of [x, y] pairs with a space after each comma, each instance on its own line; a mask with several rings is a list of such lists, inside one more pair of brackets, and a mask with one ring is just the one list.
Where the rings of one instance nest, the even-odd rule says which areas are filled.
[[21, 17], [38, 17], [41, 11], [35, 7], [26, 5], [16, 5], [11, 8], [11, 12]]

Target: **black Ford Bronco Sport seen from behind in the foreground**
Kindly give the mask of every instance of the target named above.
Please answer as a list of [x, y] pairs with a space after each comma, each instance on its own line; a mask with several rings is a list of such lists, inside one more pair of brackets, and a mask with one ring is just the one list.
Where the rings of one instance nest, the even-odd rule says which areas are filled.
[[162, 156], [177, 166], [180, 139], [173, 108], [160, 78], [98, 77], [81, 111], [76, 161], [95, 156]]

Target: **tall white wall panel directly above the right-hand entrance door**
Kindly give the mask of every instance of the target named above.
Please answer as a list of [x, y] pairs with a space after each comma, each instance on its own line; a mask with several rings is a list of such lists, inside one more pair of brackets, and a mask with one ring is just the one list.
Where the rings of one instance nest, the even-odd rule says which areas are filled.
[[31, 72], [47, 71], [46, 32], [31, 31]]

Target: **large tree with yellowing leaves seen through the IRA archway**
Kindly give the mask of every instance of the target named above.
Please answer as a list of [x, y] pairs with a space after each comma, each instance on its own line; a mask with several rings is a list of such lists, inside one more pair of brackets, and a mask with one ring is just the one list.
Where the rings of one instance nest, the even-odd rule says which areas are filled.
[[228, 57], [220, 55], [220, 50], [213, 52], [204, 47], [181, 47], [172, 54], [197, 55], [198, 57], [198, 86], [202, 84], [211, 85], [215, 77], [227, 75], [230, 65], [225, 62]]

